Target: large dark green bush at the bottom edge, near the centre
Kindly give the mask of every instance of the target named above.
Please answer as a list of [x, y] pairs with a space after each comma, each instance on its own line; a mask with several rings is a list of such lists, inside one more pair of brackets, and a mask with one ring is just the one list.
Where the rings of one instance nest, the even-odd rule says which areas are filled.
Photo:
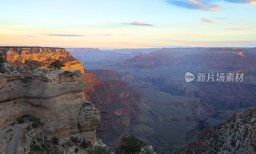
[[143, 141], [140, 139], [134, 137], [134, 136], [129, 136], [129, 137], [124, 137], [122, 138], [122, 145], [120, 146], [121, 149], [120, 151], [124, 151], [124, 153], [139, 153], [140, 149], [144, 146], [145, 144]]

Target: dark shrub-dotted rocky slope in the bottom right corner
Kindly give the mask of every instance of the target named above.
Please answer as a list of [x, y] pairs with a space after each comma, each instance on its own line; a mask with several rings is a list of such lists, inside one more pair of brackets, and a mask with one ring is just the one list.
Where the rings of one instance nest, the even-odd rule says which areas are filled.
[[197, 140], [187, 145], [186, 153], [255, 153], [256, 108], [234, 114], [229, 120], [197, 133]]

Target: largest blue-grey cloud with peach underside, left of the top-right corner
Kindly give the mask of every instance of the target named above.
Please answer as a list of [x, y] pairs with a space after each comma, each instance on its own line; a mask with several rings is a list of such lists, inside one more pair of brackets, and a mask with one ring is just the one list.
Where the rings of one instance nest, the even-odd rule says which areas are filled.
[[223, 8], [220, 5], [211, 4], [212, 0], [166, 0], [168, 4], [183, 7], [186, 9], [221, 11]]

